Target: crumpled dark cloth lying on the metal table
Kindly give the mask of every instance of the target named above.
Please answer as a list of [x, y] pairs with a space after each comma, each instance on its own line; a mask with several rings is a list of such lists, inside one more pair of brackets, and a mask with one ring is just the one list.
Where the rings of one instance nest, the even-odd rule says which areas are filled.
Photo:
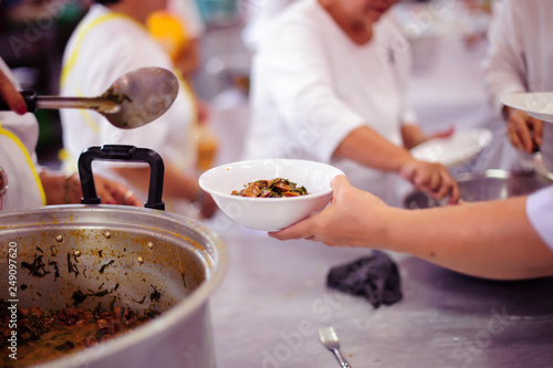
[[392, 305], [403, 297], [397, 265], [384, 252], [331, 269], [326, 285], [342, 292], [362, 295], [375, 308]]

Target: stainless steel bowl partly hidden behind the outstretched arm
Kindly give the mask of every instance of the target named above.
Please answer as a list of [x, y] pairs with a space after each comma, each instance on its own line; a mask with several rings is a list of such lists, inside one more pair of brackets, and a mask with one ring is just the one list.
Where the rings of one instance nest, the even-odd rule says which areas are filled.
[[[467, 202], [525, 196], [553, 185], [553, 181], [534, 172], [508, 170], [462, 174], [456, 180], [459, 185], [461, 199]], [[438, 201], [421, 191], [414, 191], [404, 199], [404, 206], [407, 209], [432, 208], [445, 204], [446, 201]]]

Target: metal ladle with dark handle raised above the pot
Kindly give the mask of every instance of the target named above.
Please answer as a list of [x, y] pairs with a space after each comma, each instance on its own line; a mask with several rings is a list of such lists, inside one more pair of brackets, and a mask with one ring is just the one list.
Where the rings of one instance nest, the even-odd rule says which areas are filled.
[[[161, 116], [177, 97], [179, 83], [175, 74], [161, 67], [142, 67], [118, 77], [98, 97], [36, 96], [22, 91], [28, 112], [38, 108], [86, 108], [102, 114], [122, 129], [133, 129]], [[0, 111], [10, 109], [3, 102]]]

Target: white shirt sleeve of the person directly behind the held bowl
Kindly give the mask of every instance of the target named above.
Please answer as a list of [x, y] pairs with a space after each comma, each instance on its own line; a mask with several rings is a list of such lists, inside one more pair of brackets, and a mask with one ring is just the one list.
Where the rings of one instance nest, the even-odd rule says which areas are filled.
[[[273, 31], [275, 28], [273, 28]], [[317, 132], [305, 146], [321, 161], [328, 161], [342, 140], [364, 119], [335, 93], [321, 34], [305, 24], [279, 28], [263, 40], [262, 73], [269, 75], [271, 97], [290, 132]]]

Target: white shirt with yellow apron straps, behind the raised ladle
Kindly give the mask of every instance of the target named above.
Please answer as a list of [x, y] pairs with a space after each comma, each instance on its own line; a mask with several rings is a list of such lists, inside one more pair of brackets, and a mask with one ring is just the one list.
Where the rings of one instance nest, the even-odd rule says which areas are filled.
[[[72, 34], [63, 57], [61, 94], [97, 96], [119, 76], [139, 67], [159, 66], [175, 72], [166, 52], [147, 30], [121, 13], [93, 4]], [[171, 107], [155, 122], [135, 129], [114, 127], [103, 116], [85, 109], [61, 111], [63, 144], [67, 151], [64, 169], [74, 171], [80, 154], [104, 144], [133, 145], [157, 151], [166, 166], [194, 172], [196, 161], [196, 105], [186, 82]], [[137, 164], [95, 164], [95, 172], [125, 182], [146, 199], [133, 182], [106, 170], [109, 166]], [[184, 206], [184, 203], [180, 203]], [[177, 206], [181, 207], [181, 206]], [[177, 207], [168, 209], [179, 211]]]

